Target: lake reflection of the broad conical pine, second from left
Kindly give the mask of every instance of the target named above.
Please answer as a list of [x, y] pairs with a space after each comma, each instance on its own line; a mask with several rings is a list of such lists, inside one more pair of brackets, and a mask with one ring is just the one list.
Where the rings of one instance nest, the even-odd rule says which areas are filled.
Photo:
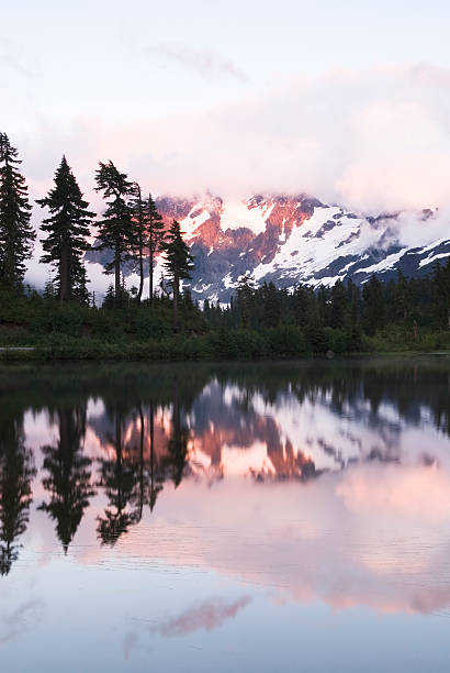
[[59, 427], [59, 440], [56, 446], [42, 448], [44, 470], [48, 474], [43, 486], [49, 492], [50, 500], [40, 509], [56, 521], [56, 534], [67, 552], [89, 498], [95, 495], [91, 484], [92, 461], [82, 453], [86, 404], [60, 407], [53, 416]]

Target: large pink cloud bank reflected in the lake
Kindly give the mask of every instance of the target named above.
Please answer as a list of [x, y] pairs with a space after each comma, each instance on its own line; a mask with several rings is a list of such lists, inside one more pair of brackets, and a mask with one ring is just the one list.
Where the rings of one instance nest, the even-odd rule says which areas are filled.
[[448, 471], [426, 465], [350, 466], [303, 486], [188, 479], [122, 552], [148, 549], [148, 561], [214, 571], [275, 602], [426, 615], [450, 606], [449, 493]]

